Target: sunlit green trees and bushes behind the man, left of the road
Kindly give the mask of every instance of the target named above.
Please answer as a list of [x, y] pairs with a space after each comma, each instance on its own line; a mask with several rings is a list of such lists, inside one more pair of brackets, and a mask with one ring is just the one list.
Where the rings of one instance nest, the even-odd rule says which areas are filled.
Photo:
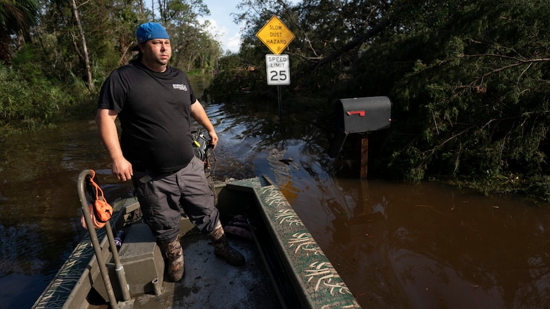
[[[212, 71], [221, 49], [205, 31], [207, 24], [198, 22], [199, 16], [208, 14], [206, 5], [201, 0], [160, 2], [162, 20], [177, 47], [172, 65], [190, 73]], [[12, 8], [10, 3], [0, 0], [0, 14], [5, 8]], [[19, 1], [23, 3], [35, 3], [29, 16], [38, 16], [38, 23], [35, 18], [25, 24], [35, 25], [26, 44], [19, 44], [16, 36], [9, 38], [10, 45], [17, 45], [17, 53], [11, 66], [1, 67], [0, 127], [34, 129], [68, 117], [90, 117], [96, 108], [94, 91], [100, 89], [113, 69], [133, 57], [135, 29], [140, 23], [154, 20], [153, 12], [138, 0], [76, 1], [95, 85], [90, 92], [80, 32], [70, 2]]]

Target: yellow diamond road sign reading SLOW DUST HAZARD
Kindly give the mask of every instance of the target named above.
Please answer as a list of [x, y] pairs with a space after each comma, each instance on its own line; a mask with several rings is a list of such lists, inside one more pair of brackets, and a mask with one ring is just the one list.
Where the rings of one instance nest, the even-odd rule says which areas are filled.
[[276, 55], [280, 55], [294, 40], [294, 34], [276, 15], [263, 25], [256, 36]]

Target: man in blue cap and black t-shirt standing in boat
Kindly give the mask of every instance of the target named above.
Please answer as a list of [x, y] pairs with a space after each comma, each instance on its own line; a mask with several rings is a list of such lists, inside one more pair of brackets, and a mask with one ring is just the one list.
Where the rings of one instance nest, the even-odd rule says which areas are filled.
[[203, 162], [192, 149], [190, 117], [208, 131], [213, 147], [218, 142], [214, 126], [185, 73], [168, 65], [172, 48], [166, 29], [144, 23], [136, 36], [137, 57], [105, 80], [96, 115], [113, 175], [119, 181], [132, 179], [144, 222], [166, 256], [170, 279], [177, 282], [184, 274], [180, 205], [209, 234], [217, 256], [242, 265], [245, 259], [225, 238]]

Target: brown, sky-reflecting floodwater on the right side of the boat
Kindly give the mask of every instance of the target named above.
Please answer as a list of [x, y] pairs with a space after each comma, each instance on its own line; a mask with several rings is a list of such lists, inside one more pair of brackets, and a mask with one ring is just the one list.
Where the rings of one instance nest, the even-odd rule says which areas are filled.
[[[254, 174], [276, 180], [362, 306], [544, 308], [550, 303], [548, 210], [437, 183], [336, 177], [353, 174], [353, 164], [346, 172], [346, 162], [328, 159], [317, 143], [320, 133], [294, 123], [298, 129], [286, 139], [263, 135], [276, 130], [276, 121], [262, 114], [270, 112], [236, 117], [233, 108], [219, 109], [225, 117], [245, 119], [226, 127], [239, 137], [238, 153], [252, 159]], [[255, 129], [259, 124], [263, 131]], [[300, 132], [308, 135], [292, 138]]]

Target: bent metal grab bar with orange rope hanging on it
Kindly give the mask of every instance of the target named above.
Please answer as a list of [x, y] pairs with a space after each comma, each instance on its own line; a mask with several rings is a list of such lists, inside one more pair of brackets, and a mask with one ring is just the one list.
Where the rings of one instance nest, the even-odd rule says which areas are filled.
[[[98, 266], [100, 268], [101, 275], [103, 277], [103, 283], [105, 284], [105, 289], [109, 295], [109, 304], [111, 308], [118, 308], [115, 293], [113, 292], [113, 286], [111, 286], [111, 279], [109, 278], [109, 271], [107, 271], [107, 266], [105, 264], [103, 255], [101, 254], [101, 247], [98, 240], [98, 234], [96, 229], [94, 229], [94, 223], [91, 221], [91, 216], [89, 212], [88, 201], [85, 194], [85, 180], [86, 176], [92, 176], [93, 173], [91, 170], [83, 170], [78, 175], [78, 181], [76, 183], [76, 191], [78, 192], [78, 199], [80, 200], [80, 205], [82, 206], [82, 211], [84, 215], [84, 220], [86, 226], [88, 227], [88, 233], [90, 235], [91, 244], [94, 247], [94, 252], [96, 253], [96, 258], [98, 259]], [[122, 297], [124, 301], [130, 299], [130, 292], [128, 284], [126, 284], [126, 277], [124, 275], [124, 268], [120, 264], [118, 259], [118, 251], [116, 250], [115, 241], [113, 238], [113, 231], [111, 230], [110, 222], [105, 225], [105, 231], [107, 232], [107, 238], [109, 239], [109, 246], [111, 247], [111, 252], [113, 253], [113, 258], [115, 259], [115, 267], [117, 272], [117, 277], [120, 282], [120, 290], [122, 291]]]

